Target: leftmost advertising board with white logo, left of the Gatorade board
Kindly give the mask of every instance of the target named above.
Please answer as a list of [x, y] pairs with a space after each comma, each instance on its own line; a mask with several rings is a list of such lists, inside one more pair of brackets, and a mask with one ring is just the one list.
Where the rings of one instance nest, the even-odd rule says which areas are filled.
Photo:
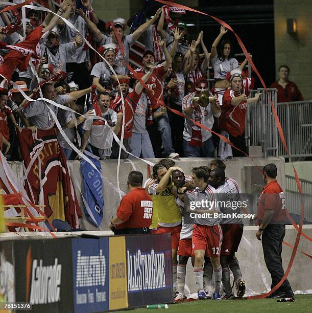
[[0, 242], [0, 302], [15, 302], [13, 242]]

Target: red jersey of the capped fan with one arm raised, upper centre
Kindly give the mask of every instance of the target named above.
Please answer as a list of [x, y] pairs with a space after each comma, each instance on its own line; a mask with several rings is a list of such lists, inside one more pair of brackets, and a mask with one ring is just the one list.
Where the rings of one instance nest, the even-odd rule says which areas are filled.
[[[135, 72], [141, 73], [142, 76], [145, 74], [143, 68], [136, 69]], [[151, 94], [148, 95], [153, 111], [156, 110], [160, 106], [157, 100], [163, 101], [162, 77], [165, 73], [166, 71], [163, 69], [163, 64], [157, 65], [154, 69], [153, 74], [150, 76], [150, 78], [146, 82], [146, 85], [148, 86], [148, 88], [154, 91], [154, 96], [152, 96]]]

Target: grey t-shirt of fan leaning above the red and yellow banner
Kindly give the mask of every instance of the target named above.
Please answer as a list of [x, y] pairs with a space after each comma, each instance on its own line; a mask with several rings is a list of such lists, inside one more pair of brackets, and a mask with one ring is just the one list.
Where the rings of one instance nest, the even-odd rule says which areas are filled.
[[[55, 102], [58, 104], [65, 104], [68, 101], [68, 96], [57, 95], [55, 98]], [[55, 120], [51, 115], [51, 111], [47, 107], [48, 105], [57, 116], [58, 107], [43, 100], [31, 102], [26, 109], [22, 108], [21, 111], [25, 117], [28, 118], [30, 122], [38, 129], [47, 130], [53, 128], [55, 124]]]

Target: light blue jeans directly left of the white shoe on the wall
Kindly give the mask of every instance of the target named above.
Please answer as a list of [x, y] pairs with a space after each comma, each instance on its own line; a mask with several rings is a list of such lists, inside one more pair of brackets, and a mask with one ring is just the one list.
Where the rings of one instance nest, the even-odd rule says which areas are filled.
[[[155, 158], [152, 143], [148, 132], [132, 132], [128, 141], [129, 152], [138, 158]], [[133, 158], [129, 155], [129, 158]]]

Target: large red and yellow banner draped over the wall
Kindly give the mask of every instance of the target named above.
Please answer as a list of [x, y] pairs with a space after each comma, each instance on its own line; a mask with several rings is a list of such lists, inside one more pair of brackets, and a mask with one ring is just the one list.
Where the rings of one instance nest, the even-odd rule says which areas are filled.
[[66, 219], [71, 227], [79, 228], [81, 211], [56, 130], [37, 129], [32, 133], [23, 129], [18, 139], [29, 197], [35, 204], [45, 205], [50, 220]]

